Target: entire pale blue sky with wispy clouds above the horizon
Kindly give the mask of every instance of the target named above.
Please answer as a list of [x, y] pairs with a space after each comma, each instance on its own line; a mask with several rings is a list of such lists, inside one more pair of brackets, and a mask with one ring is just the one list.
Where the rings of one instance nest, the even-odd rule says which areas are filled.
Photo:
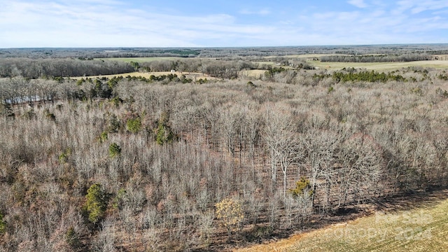
[[0, 0], [0, 48], [448, 43], [448, 1]]

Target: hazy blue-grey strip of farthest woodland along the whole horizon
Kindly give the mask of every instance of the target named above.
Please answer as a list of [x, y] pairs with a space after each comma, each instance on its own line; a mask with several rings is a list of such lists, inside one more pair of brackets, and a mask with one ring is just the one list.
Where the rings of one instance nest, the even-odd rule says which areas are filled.
[[304, 54], [342, 55], [446, 55], [447, 44], [414, 45], [310, 45], [256, 48], [0, 48], [0, 58], [31, 59], [111, 57], [266, 57]]

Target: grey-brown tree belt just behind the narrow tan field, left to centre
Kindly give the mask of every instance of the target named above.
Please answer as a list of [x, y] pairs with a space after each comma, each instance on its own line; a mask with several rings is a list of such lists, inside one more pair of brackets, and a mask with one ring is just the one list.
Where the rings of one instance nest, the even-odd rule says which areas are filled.
[[[273, 58], [283, 66], [296, 69], [313, 69], [303, 59]], [[0, 78], [22, 76], [24, 78], [60, 78], [76, 76], [99, 76], [118, 73], [179, 71], [198, 72], [216, 78], [237, 78], [241, 70], [265, 69], [270, 75], [282, 71], [280, 67], [260, 64], [247, 59], [176, 59], [153, 60], [150, 62], [120, 62], [117, 60], [85, 59], [28, 59], [0, 58]]]

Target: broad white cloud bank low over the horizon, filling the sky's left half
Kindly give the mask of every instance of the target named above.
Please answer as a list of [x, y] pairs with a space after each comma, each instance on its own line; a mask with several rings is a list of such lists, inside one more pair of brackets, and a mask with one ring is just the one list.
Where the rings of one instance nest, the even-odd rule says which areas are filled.
[[[109, 3], [109, 1], [96, 1]], [[227, 14], [178, 16], [114, 6], [11, 3], [0, 17], [0, 47], [199, 46], [201, 38], [263, 34], [258, 25], [236, 25]], [[20, 13], [20, 15], [18, 15]], [[3, 39], [4, 38], [4, 39]]]

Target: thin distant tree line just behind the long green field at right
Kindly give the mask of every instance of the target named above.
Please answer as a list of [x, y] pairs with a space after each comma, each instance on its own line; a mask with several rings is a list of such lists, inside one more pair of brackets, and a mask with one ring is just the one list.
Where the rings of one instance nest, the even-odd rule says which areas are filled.
[[419, 60], [430, 60], [433, 57], [427, 54], [405, 54], [405, 55], [330, 55], [322, 56], [321, 62], [412, 62]]

